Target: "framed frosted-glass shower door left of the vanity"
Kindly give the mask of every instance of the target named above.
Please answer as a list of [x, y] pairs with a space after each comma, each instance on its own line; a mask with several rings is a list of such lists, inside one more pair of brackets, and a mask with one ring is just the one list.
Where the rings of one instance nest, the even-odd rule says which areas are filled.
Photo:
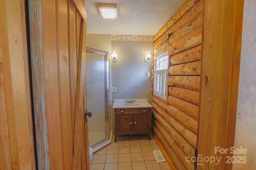
[[88, 135], [93, 152], [111, 142], [109, 88], [108, 52], [86, 47], [87, 110], [92, 111]]

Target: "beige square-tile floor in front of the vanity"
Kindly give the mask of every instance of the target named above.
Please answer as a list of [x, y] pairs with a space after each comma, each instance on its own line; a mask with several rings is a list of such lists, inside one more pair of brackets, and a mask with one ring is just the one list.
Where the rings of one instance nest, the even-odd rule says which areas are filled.
[[153, 150], [159, 150], [147, 135], [118, 135], [117, 141], [93, 154], [90, 170], [170, 170], [167, 162], [156, 162]]

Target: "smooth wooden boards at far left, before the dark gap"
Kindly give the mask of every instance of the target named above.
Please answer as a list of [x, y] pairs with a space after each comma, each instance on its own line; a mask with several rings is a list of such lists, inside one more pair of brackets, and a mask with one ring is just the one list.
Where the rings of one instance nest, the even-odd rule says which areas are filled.
[[0, 1], [0, 169], [36, 169], [25, 2]]

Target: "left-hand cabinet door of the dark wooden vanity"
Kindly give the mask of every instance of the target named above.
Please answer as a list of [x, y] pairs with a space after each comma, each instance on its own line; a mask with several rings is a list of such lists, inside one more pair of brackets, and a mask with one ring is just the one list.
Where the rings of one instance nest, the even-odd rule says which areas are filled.
[[123, 132], [123, 131], [132, 131], [132, 115], [129, 114], [119, 114], [116, 115], [116, 127], [117, 131]]

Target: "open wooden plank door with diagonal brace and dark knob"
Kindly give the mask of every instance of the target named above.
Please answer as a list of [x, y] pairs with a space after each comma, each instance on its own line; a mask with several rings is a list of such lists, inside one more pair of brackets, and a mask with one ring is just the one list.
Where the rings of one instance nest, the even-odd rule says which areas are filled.
[[89, 169], [84, 1], [31, 0], [28, 10], [38, 169]]

